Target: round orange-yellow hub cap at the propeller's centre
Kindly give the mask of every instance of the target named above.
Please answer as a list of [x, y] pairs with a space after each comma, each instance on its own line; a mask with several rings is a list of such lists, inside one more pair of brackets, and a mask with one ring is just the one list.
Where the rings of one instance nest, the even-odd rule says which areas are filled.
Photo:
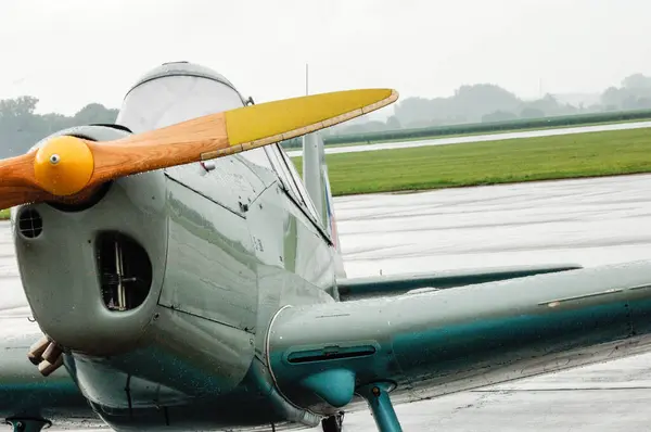
[[55, 137], [36, 152], [34, 174], [39, 186], [59, 196], [73, 195], [88, 186], [94, 168], [92, 152], [76, 137]]

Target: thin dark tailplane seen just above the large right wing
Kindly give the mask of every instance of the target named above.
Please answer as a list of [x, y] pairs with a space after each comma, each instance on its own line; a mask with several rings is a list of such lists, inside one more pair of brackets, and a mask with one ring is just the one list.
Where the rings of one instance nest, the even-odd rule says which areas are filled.
[[575, 270], [578, 268], [582, 268], [578, 264], [470, 268], [444, 270], [433, 274], [337, 279], [336, 285], [341, 301], [347, 302], [352, 300], [404, 294], [408, 291], [422, 288], [447, 289], [522, 278], [532, 275]]

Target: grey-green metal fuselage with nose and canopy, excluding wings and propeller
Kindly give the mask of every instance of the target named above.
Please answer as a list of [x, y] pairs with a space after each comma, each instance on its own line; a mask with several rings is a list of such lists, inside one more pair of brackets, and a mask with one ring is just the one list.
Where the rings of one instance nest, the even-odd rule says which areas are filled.
[[[163, 67], [127, 96], [117, 123], [136, 132], [243, 105], [228, 81], [201, 75]], [[71, 132], [127, 134], [61, 134]], [[276, 393], [263, 355], [283, 305], [334, 302], [336, 251], [296, 177], [270, 147], [123, 178], [81, 208], [13, 211], [34, 317], [110, 425], [214, 429], [307, 415]], [[28, 209], [42, 219], [37, 237]]]

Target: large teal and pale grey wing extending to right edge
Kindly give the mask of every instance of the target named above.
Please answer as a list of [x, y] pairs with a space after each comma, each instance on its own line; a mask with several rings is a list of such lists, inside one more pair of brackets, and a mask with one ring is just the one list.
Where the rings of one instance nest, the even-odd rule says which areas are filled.
[[[280, 391], [336, 409], [360, 385], [417, 401], [649, 350], [651, 263], [285, 307], [267, 358]], [[354, 409], [354, 408], [353, 408]]]

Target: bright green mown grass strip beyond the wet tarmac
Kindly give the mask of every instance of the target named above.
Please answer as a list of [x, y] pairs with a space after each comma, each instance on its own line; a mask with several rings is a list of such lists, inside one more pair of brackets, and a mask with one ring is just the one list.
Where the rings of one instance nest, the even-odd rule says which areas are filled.
[[[326, 156], [335, 195], [651, 171], [651, 129]], [[293, 158], [301, 166], [301, 157]]]

